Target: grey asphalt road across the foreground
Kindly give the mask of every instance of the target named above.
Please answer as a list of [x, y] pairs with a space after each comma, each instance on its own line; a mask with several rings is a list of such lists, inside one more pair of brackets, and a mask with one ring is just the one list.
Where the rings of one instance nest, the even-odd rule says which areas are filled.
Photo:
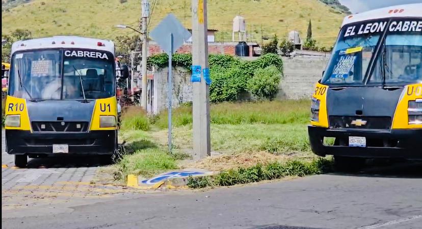
[[421, 164], [208, 191], [131, 194], [48, 214], [3, 216], [3, 228], [422, 228]]

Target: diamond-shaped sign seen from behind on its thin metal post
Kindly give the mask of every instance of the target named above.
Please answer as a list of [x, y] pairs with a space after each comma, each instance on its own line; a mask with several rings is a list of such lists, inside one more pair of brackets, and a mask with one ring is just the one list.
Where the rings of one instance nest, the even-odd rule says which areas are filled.
[[169, 152], [171, 152], [171, 107], [173, 95], [172, 68], [171, 59], [173, 53], [184, 41], [191, 37], [191, 33], [185, 29], [173, 14], [168, 14], [161, 22], [151, 31], [150, 37], [156, 41], [160, 47], [169, 55], [169, 74], [168, 74], [168, 110], [169, 110], [169, 133], [168, 144]]

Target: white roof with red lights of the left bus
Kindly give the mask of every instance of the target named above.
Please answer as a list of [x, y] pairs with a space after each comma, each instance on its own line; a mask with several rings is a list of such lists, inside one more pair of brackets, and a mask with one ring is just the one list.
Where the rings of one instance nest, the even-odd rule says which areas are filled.
[[[101, 45], [99, 45], [99, 42], [101, 42]], [[54, 36], [16, 41], [12, 44], [11, 54], [16, 51], [39, 48], [87, 48], [108, 51], [114, 55], [113, 41], [76, 36]]]

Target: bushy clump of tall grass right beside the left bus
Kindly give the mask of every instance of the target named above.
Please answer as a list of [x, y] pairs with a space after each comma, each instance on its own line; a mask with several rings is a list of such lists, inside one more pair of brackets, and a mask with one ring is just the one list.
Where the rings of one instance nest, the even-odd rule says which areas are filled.
[[126, 107], [122, 111], [122, 130], [150, 130], [150, 121], [144, 109], [141, 107]]

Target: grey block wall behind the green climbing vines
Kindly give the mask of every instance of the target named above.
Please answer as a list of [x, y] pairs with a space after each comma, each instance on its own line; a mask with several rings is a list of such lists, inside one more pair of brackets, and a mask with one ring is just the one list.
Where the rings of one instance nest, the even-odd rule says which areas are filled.
[[[278, 99], [310, 98], [314, 86], [322, 77], [322, 72], [328, 62], [328, 57], [307, 58], [294, 57], [283, 58], [283, 79], [279, 85]], [[192, 101], [191, 71], [186, 68], [173, 68], [173, 107], [181, 103]], [[168, 106], [167, 102], [167, 75], [168, 68], [154, 71], [154, 113]], [[249, 99], [250, 96], [240, 95], [241, 99]]]

